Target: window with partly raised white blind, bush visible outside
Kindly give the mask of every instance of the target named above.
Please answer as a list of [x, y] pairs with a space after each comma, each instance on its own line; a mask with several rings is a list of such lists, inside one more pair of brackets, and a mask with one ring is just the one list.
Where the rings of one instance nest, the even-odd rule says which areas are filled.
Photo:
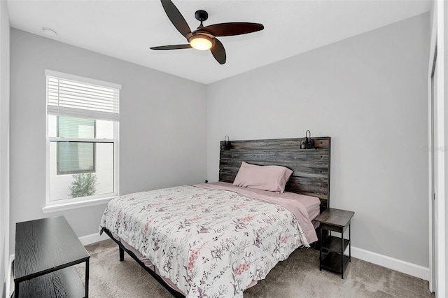
[[47, 204], [118, 195], [120, 85], [45, 71]]

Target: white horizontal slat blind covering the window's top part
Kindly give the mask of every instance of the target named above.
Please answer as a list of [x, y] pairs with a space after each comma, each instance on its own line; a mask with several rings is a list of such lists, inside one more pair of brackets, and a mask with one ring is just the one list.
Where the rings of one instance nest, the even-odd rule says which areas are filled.
[[120, 119], [121, 85], [49, 70], [45, 76], [48, 114]]

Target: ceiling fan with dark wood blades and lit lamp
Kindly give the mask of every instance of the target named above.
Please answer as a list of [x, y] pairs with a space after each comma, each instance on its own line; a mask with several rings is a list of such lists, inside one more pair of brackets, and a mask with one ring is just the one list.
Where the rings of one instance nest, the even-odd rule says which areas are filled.
[[183, 18], [179, 9], [176, 8], [171, 0], [160, 0], [162, 6], [167, 13], [169, 20], [174, 24], [177, 31], [187, 38], [188, 43], [184, 45], [162, 45], [153, 47], [151, 50], [179, 50], [195, 48], [196, 50], [210, 50], [219, 64], [225, 64], [225, 49], [223, 43], [216, 36], [232, 36], [239, 34], [247, 34], [260, 31], [265, 27], [258, 23], [248, 22], [230, 22], [221, 24], [211, 24], [204, 27], [202, 22], [208, 19], [209, 14], [205, 10], [197, 10], [195, 13], [196, 20], [201, 24], [195, 31], [191, 31], [186, 20]]

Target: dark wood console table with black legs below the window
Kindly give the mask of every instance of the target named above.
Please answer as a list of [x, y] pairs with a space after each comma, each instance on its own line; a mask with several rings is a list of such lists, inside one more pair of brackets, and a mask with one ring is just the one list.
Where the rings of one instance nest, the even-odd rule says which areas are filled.
[[[63, 216], [15, 225], [14, 297], [88, 297], [90, 255]], [[85, 262], [85, 287], [73, 265]]]

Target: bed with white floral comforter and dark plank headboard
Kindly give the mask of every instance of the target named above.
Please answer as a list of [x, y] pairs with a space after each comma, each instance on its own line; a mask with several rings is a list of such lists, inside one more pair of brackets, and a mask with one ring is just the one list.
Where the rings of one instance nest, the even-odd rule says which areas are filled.
[[[328, 206], [330, 138], [314, 138], [307, 150], [300, 141], [232, 141], [220, 151], [217, 183], [113, 199], [100, 232], [116, 241], [120, 260], [126, 251], [175, 297], [242, 297], [277, 262], [317, 240], [312, 220]], [[244, 163], [292, 172], [285, 192], [232, 185]]]

